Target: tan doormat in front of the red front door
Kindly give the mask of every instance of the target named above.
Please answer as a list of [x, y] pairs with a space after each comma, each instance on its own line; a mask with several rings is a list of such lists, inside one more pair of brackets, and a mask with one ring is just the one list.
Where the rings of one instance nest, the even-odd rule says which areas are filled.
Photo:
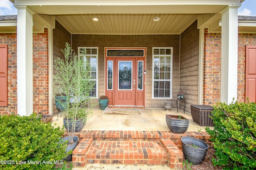
[[142, 115], [140, 109], [110, 109], [106, 108], [102, 115]]

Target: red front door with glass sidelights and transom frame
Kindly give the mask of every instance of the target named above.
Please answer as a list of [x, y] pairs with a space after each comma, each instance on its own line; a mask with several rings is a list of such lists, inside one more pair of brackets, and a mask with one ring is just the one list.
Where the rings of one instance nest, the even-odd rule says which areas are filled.
[[[106, 49], [116, 50], [118, 48]], [[105, 50], [105, 92], [109, 98], [108, 106], [145, 107], [146, 48], [122, 48], [118, 54], [134, 54], [134, 51], [131, 52], [134, 49], [143, 50], [143, 55], [138, 53], [141, 56], [108, 56], [108, 51]]]

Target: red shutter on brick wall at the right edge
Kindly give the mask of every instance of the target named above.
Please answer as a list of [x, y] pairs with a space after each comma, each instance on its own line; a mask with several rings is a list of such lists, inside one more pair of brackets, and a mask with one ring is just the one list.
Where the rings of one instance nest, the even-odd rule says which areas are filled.
[[256, 45], [246, 45], [245, 102], [256, 102]]

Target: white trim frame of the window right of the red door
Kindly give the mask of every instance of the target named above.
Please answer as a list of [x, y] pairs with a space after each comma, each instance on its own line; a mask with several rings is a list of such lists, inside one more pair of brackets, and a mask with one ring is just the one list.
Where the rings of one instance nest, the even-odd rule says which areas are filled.
[[[156, 98], [154, 97], [154, 49], [170, 49], [171, 50], [171, 69], [170, 69], [170, 98]], [[166, 55], [158, 55], [158, 56], [166, 56]], [[172, 60], [173, 60], [173, 47], [152, 47], [152, 99], [172, 99], [172, 74], [173, 74], [173, 64], [172, 64]]]

